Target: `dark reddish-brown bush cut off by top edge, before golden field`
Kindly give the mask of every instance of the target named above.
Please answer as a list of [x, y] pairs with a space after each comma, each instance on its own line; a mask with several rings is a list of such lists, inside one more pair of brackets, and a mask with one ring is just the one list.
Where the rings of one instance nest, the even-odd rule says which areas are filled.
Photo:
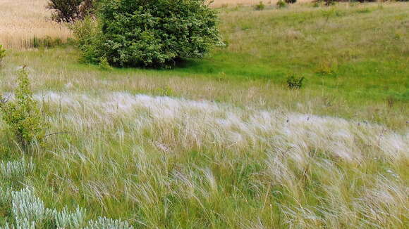
[[75, 22], [82, 20], [94, 7], [95, 0], [49, 0], [47, 8], [56, 22]]

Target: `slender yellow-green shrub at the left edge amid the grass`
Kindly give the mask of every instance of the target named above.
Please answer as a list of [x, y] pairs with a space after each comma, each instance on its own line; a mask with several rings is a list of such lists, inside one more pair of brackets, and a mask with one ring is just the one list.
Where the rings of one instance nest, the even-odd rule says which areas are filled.
[[43, 140], [47, 124], [37, 101], [32, 96], [28, 72], [24, 67], [18, 72], [15, 99], [8, 100], [0, 95], [0, 111], [4, 122], [13, 131], [23, 149], [34, 142], [38, 143]]

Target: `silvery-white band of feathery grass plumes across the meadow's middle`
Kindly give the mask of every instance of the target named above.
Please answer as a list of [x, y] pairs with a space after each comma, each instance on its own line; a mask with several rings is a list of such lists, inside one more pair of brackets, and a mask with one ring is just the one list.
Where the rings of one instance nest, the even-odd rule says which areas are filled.
[[170, 152], [176, 146], [184, 150], [204, 150], [212, 145], [214, 150], [240, 151], [252, 145], [264, 149], [277, 143], [276, 146], [282, 148], [291, 147], [294, 153], [288, 155], [298, 163], [302, 163], [312, 149], [324, 152], [326, 157], [357, 161], [365, 150], [355, 140], [358, 139], [365, 145], [377, 145], [372, 155], [391, 161], [409, 154], [408, 142], [401, 134], [383, 133], [384, 127], [376, 124], [362, 126], [334, 117], [238, 109], [204, 101], [130, 93], [109, 93], [98, 98], [49, 93], [44, 99], [51, 105], [61, 103], [66, 107], [64, 115], [69, 123], [66, 128], [73, 132], [95, 126], [107, 131], [115, 129], [118, 122], [143, 119], [144, 122], [130, 122], [129, 128], [149, 133], [161, 148], [166, 145], [166, 151]]

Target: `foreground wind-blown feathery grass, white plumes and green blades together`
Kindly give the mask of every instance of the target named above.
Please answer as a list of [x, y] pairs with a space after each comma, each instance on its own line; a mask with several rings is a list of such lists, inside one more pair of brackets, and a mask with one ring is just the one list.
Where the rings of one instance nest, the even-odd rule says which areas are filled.
[[385, 126], [130, 93], [37, 98], [67, 132], [25, 181], [53, 207], [142, 228], [408, 223], [409, 136]]

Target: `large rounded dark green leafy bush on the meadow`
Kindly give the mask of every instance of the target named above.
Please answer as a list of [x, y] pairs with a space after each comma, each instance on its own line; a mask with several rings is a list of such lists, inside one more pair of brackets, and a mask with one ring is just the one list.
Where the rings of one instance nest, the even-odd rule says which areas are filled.
[[220, 42], [216, 13], [205, 0], [107, 0], [98, 21], [99, 32], [81, 42], [83, 58], [118, 67], [173, 67]]

